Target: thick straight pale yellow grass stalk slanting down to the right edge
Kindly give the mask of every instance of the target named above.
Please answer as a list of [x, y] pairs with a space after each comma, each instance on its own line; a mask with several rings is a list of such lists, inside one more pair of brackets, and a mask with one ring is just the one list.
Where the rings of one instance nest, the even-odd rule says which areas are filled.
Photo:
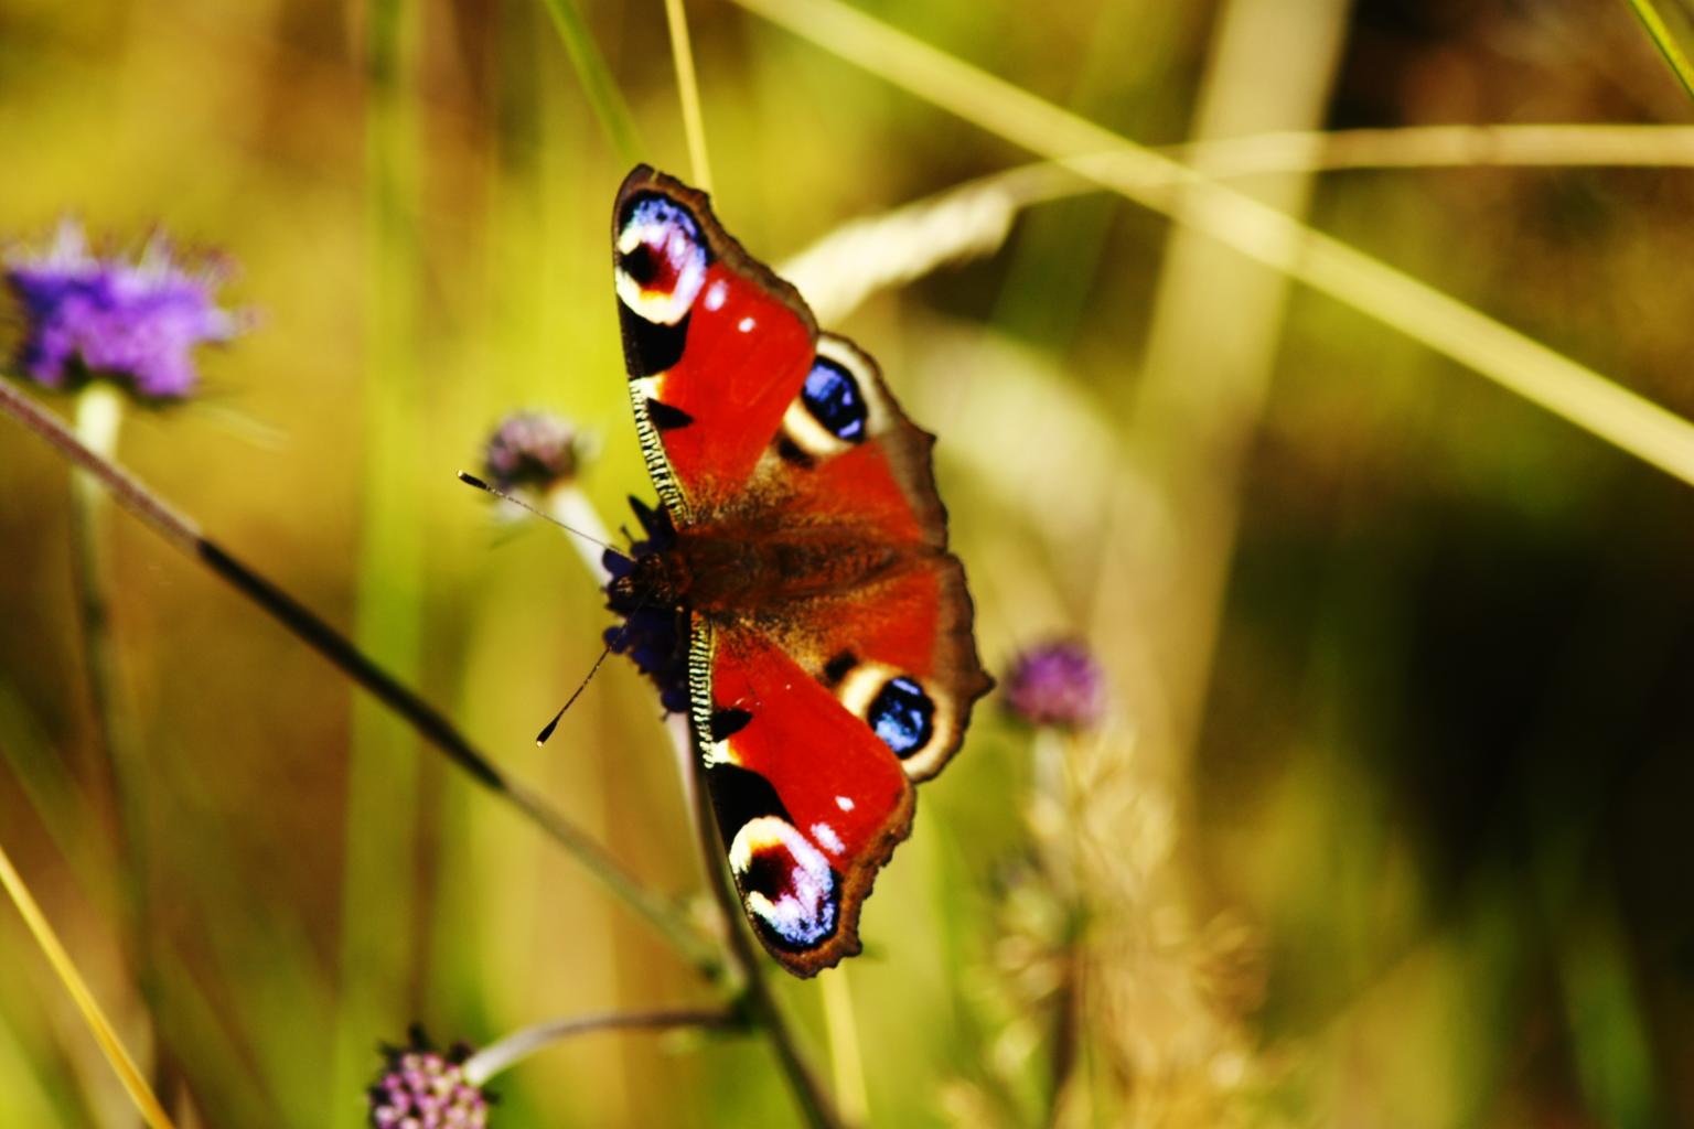
[[1694, 425], [1428, 283], [839, 0], [735, 2], [1005, 140], [1287, 273], [1694, 484]]

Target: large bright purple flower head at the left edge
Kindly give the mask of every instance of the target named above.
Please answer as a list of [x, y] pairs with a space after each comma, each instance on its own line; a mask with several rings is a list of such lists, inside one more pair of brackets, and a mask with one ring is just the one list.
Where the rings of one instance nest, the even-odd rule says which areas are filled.
[[17, 364], [47, 388], [103, 376], [146, 399], [183, 399], [198, 381], [195, 345], [227, 342], [246, 327], [217, 305], [227, 274], [222, 261], [178, 264], [158, 235], [134, 264], [97, 257], [81, 225], [64, 220], [44, 252], [5, 257], [5, 283], [24, 313]]

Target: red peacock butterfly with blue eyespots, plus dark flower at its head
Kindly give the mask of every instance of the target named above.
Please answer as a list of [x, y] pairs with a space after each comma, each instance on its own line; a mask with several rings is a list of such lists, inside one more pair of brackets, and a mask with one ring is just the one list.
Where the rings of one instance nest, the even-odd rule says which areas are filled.
[[659, 509], [608, 553], [606, 631], [686, 709], [742, 907], [810, 977], [911, 831], [915, 784], [993, 687], [930, 447], [845, 337], [705, 193], [637, 166], [612, 222], [635, 430]]

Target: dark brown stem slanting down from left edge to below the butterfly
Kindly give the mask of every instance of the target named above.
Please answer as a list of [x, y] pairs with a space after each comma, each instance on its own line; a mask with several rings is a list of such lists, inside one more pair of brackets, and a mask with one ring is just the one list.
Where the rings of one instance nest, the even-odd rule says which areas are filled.
[[691, 965], [706, 975], [717, 973], [720, 965], [717, 953], [684, 922], [667, 899], [640, 885], [588, 833], [552, 809], [537, 794], [530, 792], [522, 782], [501, 774], [446, 716], [395, 680], [393, 675], [376, 665], [344, 635], [335, 631], [335, 628], [329, 626], [293, 596], [249, 569], [208, 537], [203, 537], [169, 503], [142, 486], [110, 459], [90, 450], [51, 411], [36, 405], [7, 379], [0, 379], [0, 411], [44, 438], [69, 462], [88, 471], [112, 493], [120, 506], [152, 526], [174, 548], [193, 557], [232, 584], [242, 596], [264, 609], [296, 638], [324, 655], [324, 658], [376, 696], [386, 708], [393, 709], [457, 768], [517, 807], [530, 823], [539, 826], [586, 867], [601, 885], [645, 919]]

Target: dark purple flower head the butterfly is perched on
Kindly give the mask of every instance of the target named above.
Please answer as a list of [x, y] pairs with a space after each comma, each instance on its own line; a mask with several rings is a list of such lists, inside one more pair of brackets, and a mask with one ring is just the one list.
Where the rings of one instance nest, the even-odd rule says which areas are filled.
[[[628, 553], [606, 550], [601, 560], [612, 582], [606, 584], [606, 608], [623, 616], [620, 626], [606, 628], [606, 647], [652, 679], [659, 687], [659, 704], [669, 713], [688, 711], [688, 618], [669, 603], [644, 591], [640, 579], [652, 565], [645, 560], [662, 555], [676, 543], [676, 526], [662, 508], [650, 509], [630, 498], [642, 540], [630, 540]], [[625, 537], [628, 531], [625, 530]], [[657, 564], [657, 562], [654, 562]]]

